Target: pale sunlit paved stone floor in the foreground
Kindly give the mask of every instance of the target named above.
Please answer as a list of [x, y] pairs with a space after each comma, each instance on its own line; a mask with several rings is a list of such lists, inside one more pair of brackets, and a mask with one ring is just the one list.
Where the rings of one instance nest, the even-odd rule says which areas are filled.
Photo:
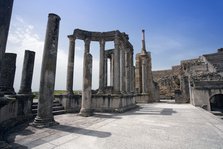
[[58, 126], [21, 128], [9, 136], [16, 148], [220, 149], [223, 120], [190, 104], [154, 103], [122, 113], [55, 116]]

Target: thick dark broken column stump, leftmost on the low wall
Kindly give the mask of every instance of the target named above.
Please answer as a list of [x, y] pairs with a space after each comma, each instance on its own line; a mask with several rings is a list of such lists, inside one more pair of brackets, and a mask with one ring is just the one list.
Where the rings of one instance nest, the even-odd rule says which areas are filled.
[[16, 54], [5, 53], [4, 54], [4, 65], [2, 65], [2, 75], [0, 82], [0, 93], [1, 94], [15, 94], [13, 84], [15, 79], [15, 69], [16, 69]]

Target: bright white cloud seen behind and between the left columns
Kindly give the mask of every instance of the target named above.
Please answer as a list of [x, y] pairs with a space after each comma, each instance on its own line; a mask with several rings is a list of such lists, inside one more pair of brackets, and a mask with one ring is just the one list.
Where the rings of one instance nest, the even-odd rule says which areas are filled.
[[[14, 82], [14, 88], [16, 91], [20, 88], [22, 65], [24, 59], [25, 50], [31, 50], [36, 52], [32, 90], [39, 90], [40, 82], [40, 70], [43, 55], [44, 39], [40, 39], [36, 33], [35, 27], [28, 24], [21, 17], [16, 16], [11, 24], [7, 50], [6, 52], [12, 52], [17, 54], [16, 61], [16, 76]], [[60, 44], [60, 43], [59, 43]], [[76, 52], [81, 51], [81, 47], [77, 46]], [[82, 50], [83, 51], [83, 50]], [[55, 89], [66, 88], [66, 73], [67, 73], [67, 50], [58, 49], [57, 55], [57, 72], [56, 72], [56, 84]], [[75, 67], [74, 67], [74, 89], [82, 88], [82, 74], [83, 74], [83, 56], [75, 54]], [[93, 60], [93, 88], [98, 87], [98, 59]]]

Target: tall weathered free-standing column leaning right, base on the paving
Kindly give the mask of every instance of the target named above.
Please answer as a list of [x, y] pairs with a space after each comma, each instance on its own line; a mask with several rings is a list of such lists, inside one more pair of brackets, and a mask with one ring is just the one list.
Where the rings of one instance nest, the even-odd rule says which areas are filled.
[[60, 17], [50, 13], [43, 51], [38, 111], [33, 123], [36, 127], [49, 127], [58, 124], [54, 121], [52, 106], [54, 100], [59, 23]]

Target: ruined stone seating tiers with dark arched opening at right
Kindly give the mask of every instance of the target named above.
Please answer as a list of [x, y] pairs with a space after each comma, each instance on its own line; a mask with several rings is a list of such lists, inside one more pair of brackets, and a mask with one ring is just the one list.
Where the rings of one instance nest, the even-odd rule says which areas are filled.
[[206, 110], [223, 109], [223, 49], [183, 60], [171, 70], [154, 71], [162, 98], [191, 103]]

